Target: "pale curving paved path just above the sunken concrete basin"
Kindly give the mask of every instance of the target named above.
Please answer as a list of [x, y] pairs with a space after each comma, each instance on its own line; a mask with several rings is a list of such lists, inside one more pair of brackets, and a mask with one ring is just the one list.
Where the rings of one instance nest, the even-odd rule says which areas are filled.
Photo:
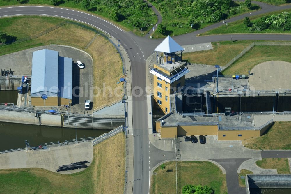
[[253, 174], [277, 174], [277, 169], [265, 169], [258, 167], [255, 163], [257, 160], [260, 160], [260, 158], [252, 158], [244, 161], [237, 169], [237, 173], [240, 173], [240, 170], [242, 169], [246, 169], [253, 172]]

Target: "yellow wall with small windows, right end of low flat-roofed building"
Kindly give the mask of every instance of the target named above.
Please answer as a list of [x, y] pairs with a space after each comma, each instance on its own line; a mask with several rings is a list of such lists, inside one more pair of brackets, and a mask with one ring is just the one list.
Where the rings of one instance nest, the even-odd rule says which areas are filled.
[[244, 140], [259, 136], [260, 130], [218, 130], [219, 140]]

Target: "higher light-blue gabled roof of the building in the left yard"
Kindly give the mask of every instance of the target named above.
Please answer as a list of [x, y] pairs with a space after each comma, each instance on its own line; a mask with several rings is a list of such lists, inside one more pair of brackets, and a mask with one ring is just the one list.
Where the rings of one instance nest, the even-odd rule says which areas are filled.
[[[57, 96], [58, 52], [49, 49], [32, 53], [31, 96]], [[40, 97], [39, 96], [39, 97]]]

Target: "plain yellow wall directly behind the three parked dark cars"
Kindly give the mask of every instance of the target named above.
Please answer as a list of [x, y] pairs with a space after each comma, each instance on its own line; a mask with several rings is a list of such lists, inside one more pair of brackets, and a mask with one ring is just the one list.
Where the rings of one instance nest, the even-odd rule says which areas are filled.
[[178, 136], [217, 135], [217, 125], [178, 126]]

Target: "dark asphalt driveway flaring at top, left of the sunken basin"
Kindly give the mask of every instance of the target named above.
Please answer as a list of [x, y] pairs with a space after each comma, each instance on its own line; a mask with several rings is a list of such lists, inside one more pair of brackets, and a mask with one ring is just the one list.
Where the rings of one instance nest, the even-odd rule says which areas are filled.
[[237, 169], [247, 159], [212, 159], [224, 167], [226, 171], [226, 183], [228, 194], [245, 194], [246, 188], [238, 183]]

